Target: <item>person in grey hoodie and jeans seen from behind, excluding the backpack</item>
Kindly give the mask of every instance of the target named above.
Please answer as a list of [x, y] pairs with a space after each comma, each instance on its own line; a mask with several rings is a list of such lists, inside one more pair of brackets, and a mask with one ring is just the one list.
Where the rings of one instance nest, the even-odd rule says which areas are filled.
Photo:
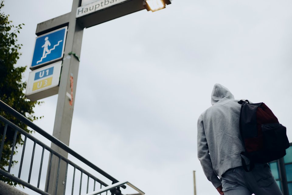
[[198, 119], [198, 158], [207, 179], [220, 194], [282, 195], [268, 164], [255, 164], [251, 172], [242, 168], [245, 151], [239, 132], [241, 105], [223, 85], [215, 84], [212, 106]]

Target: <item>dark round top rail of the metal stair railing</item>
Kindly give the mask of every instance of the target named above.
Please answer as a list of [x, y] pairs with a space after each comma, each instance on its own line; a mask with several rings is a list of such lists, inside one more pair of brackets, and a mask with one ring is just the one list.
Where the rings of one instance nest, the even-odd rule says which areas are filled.
[[[77, 152], [75, 152], [74, 150], [72, 150], [71, 148], [69, 148], [63, 142], [61, 142], [57, 138], [53, 137], [52, 135], [48, 134], [46, 131], [44, 131], [43, 129], [41, 129], [37, 125], [33, 124], [33, 122], [31, 122], [29, 119], [27, 119], [26, 117], [24, 117], [22, 114], [20, 114], [19, 112], [17, 112], [16, 110], [14, 110], [13, 108], [11, 108], [10, 106], [8, 106], [2, 100], [0, 100], [0, 107], [3, 110], [5, 110], [6, 112], [12, 114], [15, 118], [17, 118], [18, 120], [20, 120], [21, 122], [23, 122], [24, 124], [26, 124], [27, 126], [29, 126], [30, 128], [32, 128], [34, 131], [36, 131], [39, 134], [43, 135], [45, 138], [47, 138], [48, 140], [50, 140], [55, 145], [57, 145], [60, 148], [62, 148], [64, 151], [68, 152], [69, 154], [71, 154], [72, 156], [74, 156], [75, 158], [77, 158], [78, 160], [84, 162], [86, 165], [88, 165], [92, 169], [96, 170], [101, 175], [105, 176], [107, 179], [110, 179], [113, 183], [119, 182], [113, 176], [110, 176], [108, 173], [106, 173], [105, 171], [103, 171], [102, 169], [100, 169], [99, 167], [97, 167], [96, 165], [94, 165], [92, 162], [89, 162], [87, 159], [85, 159], [84, 157], [82, 157], [81, 155], [79, 155]], [[126, 186], [124, 186], [124, 185], [121, 186], [121, 187], [123, 189], [126, 189]]]

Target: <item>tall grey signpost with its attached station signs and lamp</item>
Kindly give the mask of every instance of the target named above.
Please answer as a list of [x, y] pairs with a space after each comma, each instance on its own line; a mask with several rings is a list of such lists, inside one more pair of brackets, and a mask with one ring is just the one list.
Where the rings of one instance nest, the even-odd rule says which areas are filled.
[[[149, 2], [151, 4], [148, 5]], [[73, 0], [70, 13], [37, 25], [38, 37], [30, 67], [33, 71], [30, 73], [26, 96], [31, 100], [38, 100], [56, 94], [56, 83], [62, 64], [53, 131], [55, 138], [69, 145], [83, 29], [143, 9], [163, 9], [169, 4], [171, 0]], [[162, 6], [152, 9], [153, 5]], [[51, 64], [56, 61], [60, 62]], [[54, 143], [51, 148], [68, 157], [68, 153]], [[61, 195], [64, 190], [66, 163], [60, 162], [54, 155], [50, 163], [51, 170], [50, 173], [47, 172], [47, 176], [50, 176], [49, 179], [47, 177], [49, 184], [45, 186], [45, 191]]]

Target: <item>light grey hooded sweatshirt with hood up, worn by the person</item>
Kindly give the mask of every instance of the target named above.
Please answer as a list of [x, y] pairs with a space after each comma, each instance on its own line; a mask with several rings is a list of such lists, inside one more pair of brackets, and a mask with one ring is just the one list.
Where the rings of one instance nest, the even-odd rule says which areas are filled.
[[241, 105], [237, 102], [226, 87], [215, 84], [212, 106], [198, 119], [198, 158], [215, 188], [222, 185], [220, 179], [225, 171], [242, 166], [240, 153], [245, 149], [239, 132]]

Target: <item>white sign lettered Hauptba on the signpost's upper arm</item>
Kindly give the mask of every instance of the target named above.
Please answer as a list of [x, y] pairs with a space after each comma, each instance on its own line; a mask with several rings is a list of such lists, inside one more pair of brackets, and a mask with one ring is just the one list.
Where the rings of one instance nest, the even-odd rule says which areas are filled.
[[76, 18], [99, 11], [101, 9], [111, 7], [113, 5], [116, 5], [125, 1], [128, 1], [128, 0], [98, 0], [95, 2], [92, 2], [90, 0], [85, 0], [82, 4], [83, 6], [77, 8]]

